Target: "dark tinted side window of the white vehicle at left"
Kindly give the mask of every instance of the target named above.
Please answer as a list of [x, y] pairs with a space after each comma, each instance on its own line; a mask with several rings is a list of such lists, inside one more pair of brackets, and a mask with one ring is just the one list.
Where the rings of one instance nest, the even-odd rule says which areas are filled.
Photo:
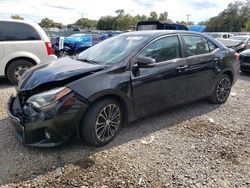
[[28, 24], [0, 22], [0, 41], [41, 40], [36, 30]]

